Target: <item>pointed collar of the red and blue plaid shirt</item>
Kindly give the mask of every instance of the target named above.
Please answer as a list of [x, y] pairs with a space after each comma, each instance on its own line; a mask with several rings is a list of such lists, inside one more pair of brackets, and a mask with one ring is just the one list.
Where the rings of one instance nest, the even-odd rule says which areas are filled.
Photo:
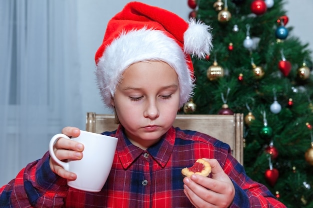
[[[143, 152], [144, 150], [134, 146], [123, 133], [121, 125], [118, 126], [115, 137], [117, 142], [117, 155], [124, 169], [127, 169]], [[146, 151], [162, 168], [168, 162], [175, 142], [175, 130], [171, 127], [153, 146]]]

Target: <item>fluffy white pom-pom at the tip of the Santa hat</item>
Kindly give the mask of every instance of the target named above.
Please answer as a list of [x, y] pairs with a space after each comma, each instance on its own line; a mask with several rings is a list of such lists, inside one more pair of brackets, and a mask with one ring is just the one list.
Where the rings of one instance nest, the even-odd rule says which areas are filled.
[[190, 18], [188, 23], [188, 29], [183, 34], [184, 52], [204, 58], [213, 47], [212, 34], [208, 31], [211, 28], [199, 20], [196, 22], [194, 18]]

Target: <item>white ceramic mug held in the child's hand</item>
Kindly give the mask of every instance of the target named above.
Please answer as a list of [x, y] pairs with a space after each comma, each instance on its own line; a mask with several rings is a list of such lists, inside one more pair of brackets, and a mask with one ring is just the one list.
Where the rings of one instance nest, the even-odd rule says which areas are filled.
[[80, 131], [80, 135], [72, 140], [84, 145], [82, 159], [67, 162], [60, 161], [54, 154], [53, 145], [59, 138], [70, 139], [64, 134], [54, 135], [49, 143], [49, 153], [57, 164], [77, 175], [76, 180], [67, 180], [67, 185], [87, 192], [101, 191], [112, 168], [117, 138]]

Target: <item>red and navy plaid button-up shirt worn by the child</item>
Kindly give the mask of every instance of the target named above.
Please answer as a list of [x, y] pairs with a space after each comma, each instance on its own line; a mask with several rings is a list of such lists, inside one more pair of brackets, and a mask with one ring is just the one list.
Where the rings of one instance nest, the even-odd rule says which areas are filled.
[[106, 135], [118, 138], [111, 172], [102, 190], [69, 188], [49, 168], [49, 154], [28, 164], [0, 188], [1, 208], [191, 208], [183, 193], [181, 169], [198, 158], [215, 158], [230, 177], [235, 197], [230, 208], [285, 208], [267, 188], [245, 175], [229, 146], [210, 136], [171, 128], [147, 150], [132, 145], [121, 127]]

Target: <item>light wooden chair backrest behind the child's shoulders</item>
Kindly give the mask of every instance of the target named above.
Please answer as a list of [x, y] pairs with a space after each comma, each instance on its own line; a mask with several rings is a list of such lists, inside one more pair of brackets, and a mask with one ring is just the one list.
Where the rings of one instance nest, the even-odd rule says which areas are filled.
[[[243, 114], [233, 115], [180, 115], [173, 124], [180, 129], [189, 129], [208, 134], [227, 143], [233, 157], [243, 164]], [[86, 114], [86, 131], [102, 133], [117, 128], [113, 114]]]

